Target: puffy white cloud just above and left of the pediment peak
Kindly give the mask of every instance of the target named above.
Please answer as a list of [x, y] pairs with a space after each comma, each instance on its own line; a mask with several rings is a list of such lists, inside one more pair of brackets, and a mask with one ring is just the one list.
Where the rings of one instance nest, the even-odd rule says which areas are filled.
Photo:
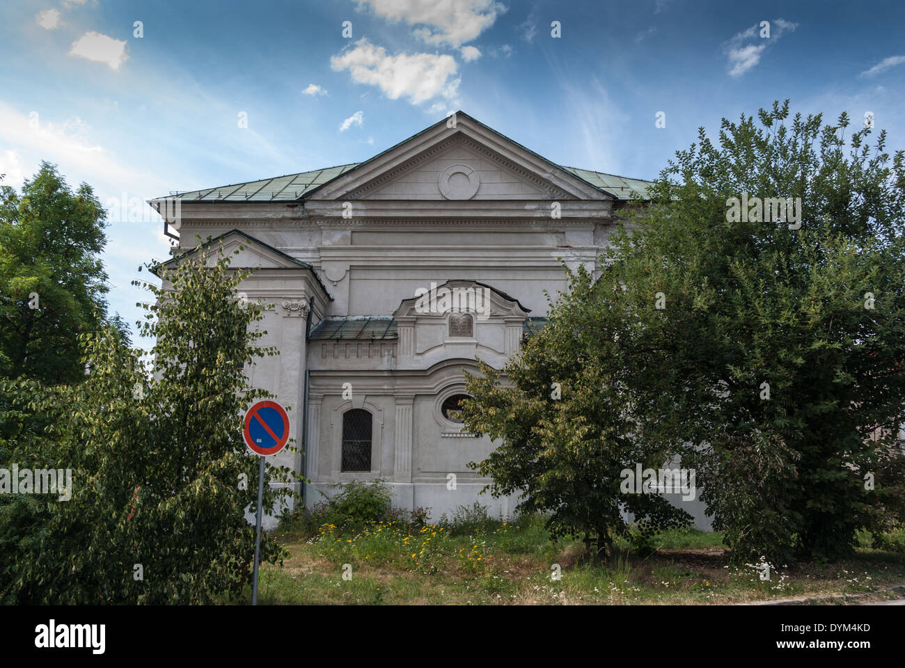
[[374, 46], [362, 37], [355, 48], [330, 58], [336, 71], [348, 70], [353, 81], [377, 86], [390, 100], [405, 96], [413, 104], [430, 100], [437, 95], [452, 97], [459, 79], [452, 79], [458, 71], [451, 55], [438, 53], [397, 53], [387, 55], [382, 46]]

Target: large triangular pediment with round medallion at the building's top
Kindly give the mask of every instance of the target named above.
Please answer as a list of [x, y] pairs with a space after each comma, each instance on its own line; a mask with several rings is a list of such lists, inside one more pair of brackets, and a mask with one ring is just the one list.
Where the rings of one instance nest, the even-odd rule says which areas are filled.
[[613, 197], [460, 111], [314, 188], [305, 199], [600, 201]]

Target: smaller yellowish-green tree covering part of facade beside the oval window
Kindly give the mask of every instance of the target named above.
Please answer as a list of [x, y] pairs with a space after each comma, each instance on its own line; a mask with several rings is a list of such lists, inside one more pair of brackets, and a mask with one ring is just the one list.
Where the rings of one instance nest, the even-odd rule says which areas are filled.
[[[551, 538], [584, 535], [586, 550], [614, 558], [613, 539], [627, 535], [648, 547], [659, 530], [687, 525], [691, 516], [663, 497], [624, 493], [624, 472], [636, 464], [659, 469], [668, 447], [638, 438], [630, 396], [631, 350], [623, 344], [631, 313], [576, 299], [600, 291], [584, 270], [569, 273], [569, 292], [550, 304], [548, 325], [526, 342], [500, 372], [479, 360], [480, 375], [466, 374], [471, 399], [462, 402], [466, 428], [500, 439], [481, 463], [494, 496], [518, 493], [519, 511], [547, 516]], [[614, 300], [621, 291], [609, 290]], [[624, 512], [632, 513], [633, 531]]]

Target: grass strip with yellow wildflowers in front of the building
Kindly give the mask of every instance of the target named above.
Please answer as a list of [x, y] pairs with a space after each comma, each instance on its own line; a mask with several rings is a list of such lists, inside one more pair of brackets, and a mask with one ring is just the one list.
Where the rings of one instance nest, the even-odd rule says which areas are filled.
[[776, 570], [762, 580], [753, 566], [728, 565], [719, 533], [664, 532], [651, 556], [628, 550], [616, 564], [589, 564], [579, 540], [551, 541], [537, 516], [443, 520], [422, 529], [402, 520], [351, 530], [328, 522], [314, 532], [287, 523], [278, 535], [289, 558], [262, 567], [259, 603], [706, 605], [859, 594], [905, 582], [899, 534], [884, 549], [862, 539], [851, 559]]

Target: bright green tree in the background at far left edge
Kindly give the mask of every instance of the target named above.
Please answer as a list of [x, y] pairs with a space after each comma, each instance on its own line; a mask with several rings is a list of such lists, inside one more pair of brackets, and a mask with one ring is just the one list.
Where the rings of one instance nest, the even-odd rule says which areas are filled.
[[77, 337], [107, 314], [106, 217], [90, 186], [73, 193], [46, 162], [21, 194], [0, 187], [0, 376], [84, 376]]

